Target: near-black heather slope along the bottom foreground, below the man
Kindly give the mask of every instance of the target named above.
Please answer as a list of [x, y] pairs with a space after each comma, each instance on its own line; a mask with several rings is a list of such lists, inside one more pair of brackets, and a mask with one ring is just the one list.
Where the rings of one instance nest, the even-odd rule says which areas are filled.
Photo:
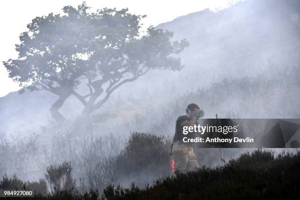
[[[283, 152], [275, 156], [272, 151], [258, 149], [231, 159], [224, 166], [202, 167], [197, 172], [177, 174], [173, 178], [159, 178], [152, 186], [146, 185], [145, 188], [132, 184], [130, 188], [124, 189], [110, 184], [104, 189], [101, 197], [97, 191], [80, 194], [78, 191], [71, 193], [62, 190], [47, 196], [36, 195], [34, 199], [292, 199], [298, 195], [300, 189], [299, 167], [300, 152]], [[3, 180], [0, 181], [0, 185], [3, 184]], [[7, 177], [4, 182], [7, 182]]]

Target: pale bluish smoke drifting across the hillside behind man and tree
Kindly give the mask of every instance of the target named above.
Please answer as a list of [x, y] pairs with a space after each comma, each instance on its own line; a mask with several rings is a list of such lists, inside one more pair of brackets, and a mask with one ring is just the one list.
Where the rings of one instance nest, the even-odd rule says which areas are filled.
[[[57, 97], [47, 92], [0, 98], [0, 175], [37, 180], [48, 165], [70, 160], [78, 179], [104, 157], [117, 155], [132, 131], [172, 140], [175, 120], [191, 102], [200, 105], [205, 118], [300, 118], [299, 10], [297, 0], [245, 0], [158, 25], [174, 31], [174, 40], [190, 42], [180, 54], [185, 68], [150, 71], [121, 86], [92, 114], [89, 127], [74, 125], [82, 106], [72, 97], [60, 110], [66, 125], [51, 119], [49, 108]], [[82, 84], [78, 90], [88, 88]], [[226, 149], [225, 160], [247, 150]], [[195, 151], [200, 165], [222, 164], [219, 149]], [[154, 178], [145, 169], [118, 181], [143, 185]]]

